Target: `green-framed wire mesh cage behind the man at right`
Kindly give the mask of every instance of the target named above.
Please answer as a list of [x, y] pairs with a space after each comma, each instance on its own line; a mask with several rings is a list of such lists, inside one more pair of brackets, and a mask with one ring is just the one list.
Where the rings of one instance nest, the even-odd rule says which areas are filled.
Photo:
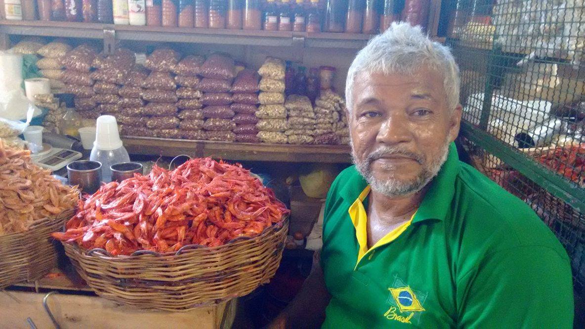
[[585, 1], [456, 0], [462, 136], [474, 165], [541, 216], [585, 284]]

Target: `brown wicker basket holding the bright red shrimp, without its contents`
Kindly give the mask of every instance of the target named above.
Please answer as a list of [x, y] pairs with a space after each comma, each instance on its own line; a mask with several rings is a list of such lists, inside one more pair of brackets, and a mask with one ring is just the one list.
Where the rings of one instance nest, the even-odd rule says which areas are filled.
[[187, 311], [244, 296], [276, 273], [288, 219], [259, 236], [176, 253], [139, 251], [109, 256], [64, 244], [75, 269], [99, 296], [140, 309]]

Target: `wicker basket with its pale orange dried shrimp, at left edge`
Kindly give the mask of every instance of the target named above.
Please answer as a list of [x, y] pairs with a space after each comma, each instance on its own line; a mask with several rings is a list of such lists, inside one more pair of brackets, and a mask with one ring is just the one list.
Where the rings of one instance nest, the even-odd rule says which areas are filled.
[[51, 232], [73, 215], [79, 193], [0, 139], [0, 289], [46, 275], [56, 261]]

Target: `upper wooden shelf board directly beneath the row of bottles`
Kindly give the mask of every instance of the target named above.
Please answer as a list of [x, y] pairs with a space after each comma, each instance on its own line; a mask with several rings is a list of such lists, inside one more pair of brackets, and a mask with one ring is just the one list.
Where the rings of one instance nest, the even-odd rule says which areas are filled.
[[43, 20], [0, 20], [0, 33], [6, 35], [104, 39], [105, 30], [114, 31], [116, 40], [345, 49], [361, 49], [371, 37], [370, 35], [350, 33], [163, 28], [160, 26], [46, 22]]

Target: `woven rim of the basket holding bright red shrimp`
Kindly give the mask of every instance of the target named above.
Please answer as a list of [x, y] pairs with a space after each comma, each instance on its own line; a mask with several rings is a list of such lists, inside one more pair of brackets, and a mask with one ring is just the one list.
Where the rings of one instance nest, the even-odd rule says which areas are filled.
[[212, 247], [204, 246], [204, 245], [195, 245], [195, 244], [184, 245], [183, 247], [181, 247], [181, 249], [179, 249], [176, 252], [159, 253], [156, 251], [149, 251], [149, 250], [142, 249], [142, 250], [138, 250], [138, 251], [133, 252], [131, 255], [112, 256], [111, 253], [107, 252], [105, 249], [102, 249], [102, 248], [94, 248], [94, 249], [87, 250], [87, 249], [80, 248], [80, 246], [77, 244], [70, 244], [67, 242], [61, 242], [61, 243], [70, 245], [74, 249], [75, 252], [80, 253], [81, 255], [84, 255], [86, 257], [100, 258], [100, 259], [104, 259], [105, 261], [121, 260], [121, 259], [126, 261], [126, 260], [132, 260], [132, 259], [137, 259], [137, 258], [144, 258], [145, 256], [154, 256], [157, 258], [164, 258], [164, 257], [168, 257], [168, 256], [183, 255], [185, 253], [192, 252], [192, 251], [211, 251], [211, 252], [219, 251], [219, 249], [223, 249], [226, 246], [237, 246], [237, 245], [245, 244], [245, 243], [253, 241], [253, 240], [260, 240], [261, 238], [266, 237], [266, 235], [279, 232], [281, 229], [285, 228], [285, 224], [287, 222], [288, 222], [288, 215], [283, 215], [283, 219], [281, 221], [273, 223], [269, 227], [264, 228], [264, 230], [259, 235], [256, 235], [256, 237], [235, 238], [235, 239], [230, 240], [226, 244], [219, 245], [219, 246], [212, 246]]

